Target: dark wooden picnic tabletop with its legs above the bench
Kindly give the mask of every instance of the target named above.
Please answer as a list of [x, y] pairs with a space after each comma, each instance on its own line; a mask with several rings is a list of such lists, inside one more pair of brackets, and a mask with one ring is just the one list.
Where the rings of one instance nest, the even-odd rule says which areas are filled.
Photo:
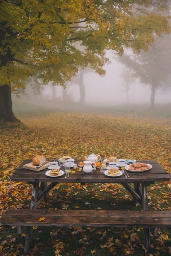
[[[78, 163], [80, 160], [76, 160]], [[23, 168], [24, 164], [31, 162], [27, 159], [14, 171], [10, 177], [11, 181], [29, 182], [33, 183], [32, 199], [30, 208], [36, 209], [38, 201], [44, 197], [45, 201], [48, 200], [48, 192], [56, 186], [59, 182], [67, 183], [120, 183], [128, 192], [133, 196], [133, 203], [138, 200], [142, 204], [142, 210], [148, 211], [148, 199], [147, 199], [147, 186], [150, 183], [158, 181], [169, 181], [170, 175], [164, 170], [157, 161], [141, 161], [152, 165], [152, 169], [142, 173], [129, 173], [129, 178], [125, 178], [124, 175], [119, 177], [108, 177], [100, 172], [99, 169], [93, 170], [92, 173], [84, 173], [83, 170], [75, 170], [75, 173], [71, 173], [69, 178], [65, 178], [65, 175], [60, 177], [48, 177], [45, 175], [45, 171], [48, 169], [34, 172]], [[61, 170], [64, 170], [62, 167]], [[72, 169], [71, 169], [72, 170]], [[50, 183], [47, 186], [47, 182]], [[134, 183], [134, 189], [129, 183]]]

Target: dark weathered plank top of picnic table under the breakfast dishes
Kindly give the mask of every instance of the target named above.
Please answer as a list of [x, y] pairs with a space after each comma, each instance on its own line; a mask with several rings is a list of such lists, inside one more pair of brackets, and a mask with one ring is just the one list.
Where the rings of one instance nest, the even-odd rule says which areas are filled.
[[[80, 160], [75, 161], [78, 163]], [[152, 165], [152, 169], [142, 173], [128, 172], [130, 178], [125, 178], [124, 175], [119, 177], [108, 177], [100, 170], [93, 170], [92, 173], [84, 173], [83, 170], [80, 172], [75, 170], [75, 173], [70, 173], [69, 178], [65, 178], [65, 175], [60, 177], [48, 177], [45, 175], [45, 171], [48, 169], [41, 170], [39, 172], [27, 170], [23, 168], [23, 164], [31, 162], [27, 159], [14, 171], [10, 177], [11, 181], [25, 181], [25, 182], [93, 182], [93, 183], [134, 183], [134, 182], [155, 182], [155, 181], [169, 181], [170, 175], [158, 164], [157, 161], [141, 161]], [[63, 167], [61, 168], [63, 170]], [[72, 170], [72, 169], [71, 169]]]

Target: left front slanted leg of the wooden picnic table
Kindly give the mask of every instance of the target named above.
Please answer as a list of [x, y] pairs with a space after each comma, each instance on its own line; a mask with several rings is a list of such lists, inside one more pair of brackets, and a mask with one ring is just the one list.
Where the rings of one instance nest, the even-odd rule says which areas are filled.
[[[30, 202], [30, 209], [36, 209], [37, 207], [38, 191], [39, 191], [39, 182], [34, 182], [31, 202]], [[30, 246], [31, 237], [32, 237], [32, 229], [33, 229], [32, 226], [28, 226], [26, 229], [26, 239], [25, 239], [25, 247], [24, 247], [25, 254], [27, 254], [27, 252], [29, 251], [29, 246]]]

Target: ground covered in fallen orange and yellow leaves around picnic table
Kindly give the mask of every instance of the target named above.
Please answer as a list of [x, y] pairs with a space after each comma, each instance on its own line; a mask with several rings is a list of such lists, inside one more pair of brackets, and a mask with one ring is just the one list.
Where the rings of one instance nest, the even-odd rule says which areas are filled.
[[[76, 159], [96, 153], [137, 160], [157, 160], [169, 173], [171, 164], [171, 118], [108, 116], [56, 112], [46, 116], [18, 117], [24, 125], [0, 123], [0, 209], [28, 208], [31, 185], [10, 182], [10, 175], [27, 158], [44, 155]], [[171, 183], [155, 183], [148, 188], [152, 210], [171, 211]], [[129, 209], [131, 195], [118, 184], [70, 186], [58, 184], [49, 193], [47, 209]], [[137, 204], [133, 209], [141, 209]], [[0, 255], [22, 255], [25, 233], [17, 227], [0, 227]], [[151, 235], [151, 255], [171, 254], [171, 234], [161, 229], [159, 238]], [[101, 229], [34, 227], [29, 255], [145, 255], [142, 229]]]

